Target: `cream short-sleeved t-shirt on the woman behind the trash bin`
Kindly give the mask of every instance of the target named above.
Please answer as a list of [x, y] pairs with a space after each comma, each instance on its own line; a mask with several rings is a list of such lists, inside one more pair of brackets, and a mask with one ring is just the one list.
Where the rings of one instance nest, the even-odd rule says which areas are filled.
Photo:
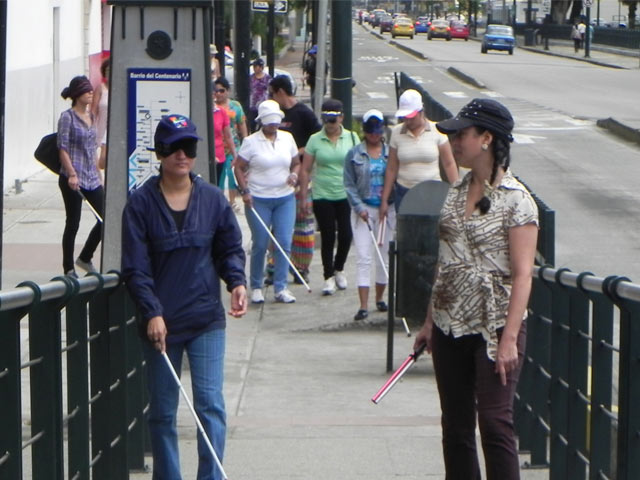
[[397, 182], [411, 188], [425, 180], [441, 181], [440, 145], [448, 141], [434, 122], [427, 121], [425, 130], [417, 137], [404, 124], [396, 125], [391, 131], [389, 146], [398, 153]]

